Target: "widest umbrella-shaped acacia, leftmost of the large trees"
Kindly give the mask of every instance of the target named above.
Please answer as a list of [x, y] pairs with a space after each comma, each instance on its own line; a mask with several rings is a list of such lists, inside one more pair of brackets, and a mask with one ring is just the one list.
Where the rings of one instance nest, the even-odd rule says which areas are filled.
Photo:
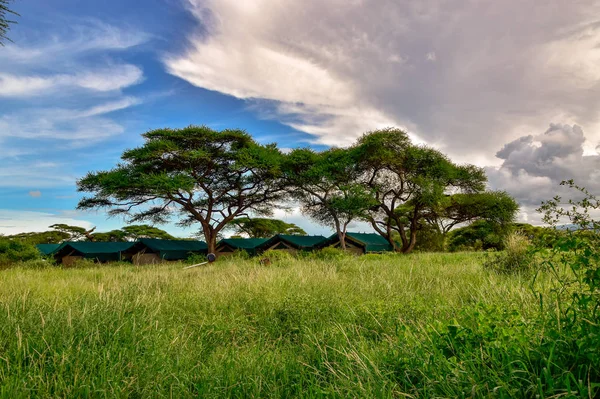
[[77, 182], [93, 193], [79, 209], [109, 208], [130, 222], [201, 225], [209, 252], [219, 233], [248, 212], [268, 215], [285, 198], [274, 144], [260, 145], [241, 130], [206, 126], [158, 129], [143, 135], [143, 146], [127, 150], [109, 171], [91, 172]]

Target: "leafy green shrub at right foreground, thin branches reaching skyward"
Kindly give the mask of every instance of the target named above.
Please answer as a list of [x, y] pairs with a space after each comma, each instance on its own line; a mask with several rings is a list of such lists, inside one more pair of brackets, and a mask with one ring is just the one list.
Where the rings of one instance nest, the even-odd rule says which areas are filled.
[[[578, 378], [600, 381], [600, 222], [594, 218], [600, 199], [573, 180], [563, 181], [575, 191], [567, 206], [560, 197], [539, 208], [543, 220], [553, 227], [564, 221], [577, 231], [555, 236], [550, 249], [540, 248], [543, 269], [551, 277], [552, 289], [543, 304], [556, 307], [554, 331], [560, 337], [559, 356], [581, 365]], [[591, 397], [591, 395], [590, 395]]]

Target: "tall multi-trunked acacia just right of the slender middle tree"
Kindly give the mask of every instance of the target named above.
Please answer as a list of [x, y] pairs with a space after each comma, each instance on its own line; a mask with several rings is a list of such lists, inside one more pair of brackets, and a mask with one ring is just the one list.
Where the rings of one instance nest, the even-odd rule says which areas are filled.
[[[415, 146], [400, 129], [366, 133], [353, 151], [360, 181], [376, 200], [365, 220], [398, 252], [412, 251], [426, 211], [448, 192], [473, 193], [485, 188], [481, 168], [456, 165], [439, 151]], [[400, 244], [395, 236], [400, 237]]]

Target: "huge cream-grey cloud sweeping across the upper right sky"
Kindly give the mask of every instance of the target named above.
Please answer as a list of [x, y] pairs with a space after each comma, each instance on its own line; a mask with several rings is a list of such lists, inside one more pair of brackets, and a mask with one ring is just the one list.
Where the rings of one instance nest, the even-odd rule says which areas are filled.
[[397, 125], [483, 165], [497, 164], [493, 152], [508, 140], [550, 121], [600, 133], [600, 3], [592, 0], [189, 7], [202, 29], [187, 52], [165, 59], [169, 72], [260, 99], [264, 115], [321, 143]]

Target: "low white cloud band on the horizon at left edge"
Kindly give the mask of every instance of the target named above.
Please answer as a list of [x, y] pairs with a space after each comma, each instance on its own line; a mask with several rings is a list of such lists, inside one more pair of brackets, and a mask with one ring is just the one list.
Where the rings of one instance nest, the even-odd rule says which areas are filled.
[[47, 231], [48, 226], [65, 223], [71, 226], [91, 228], [85, 220], [63, 217], [46, 212], [0, 209], [0, 234], [11, 235], [25, 232]]

